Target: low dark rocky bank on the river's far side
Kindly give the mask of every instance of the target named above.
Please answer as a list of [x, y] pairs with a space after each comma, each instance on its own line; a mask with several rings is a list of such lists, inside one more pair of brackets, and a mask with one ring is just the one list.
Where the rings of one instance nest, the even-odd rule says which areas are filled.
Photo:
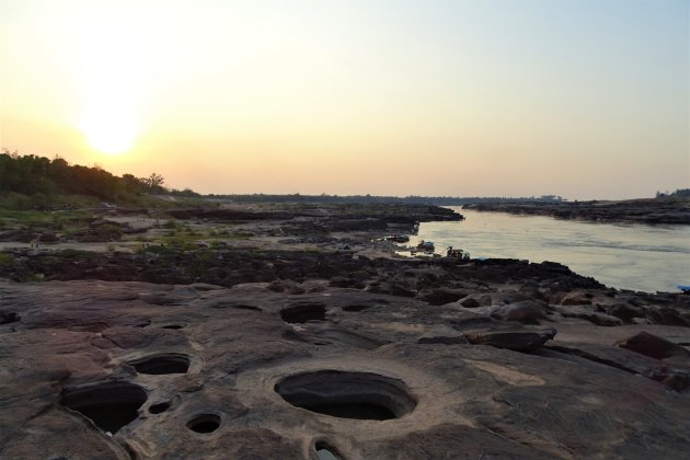
[[463, 208], [601, 222], [690, 225], [690, 199], [688, 198], [572, 203], [479, 203], [464, 205]]

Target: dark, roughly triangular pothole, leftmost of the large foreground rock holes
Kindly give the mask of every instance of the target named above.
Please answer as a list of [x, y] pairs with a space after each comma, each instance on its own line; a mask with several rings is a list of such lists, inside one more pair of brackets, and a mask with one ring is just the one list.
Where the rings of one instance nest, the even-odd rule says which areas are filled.
[[139, 407], [146, 400], [146, 391], [139, 386], [106, 382], [66, 389], [60, 404], [79, 412], [102, 430], [116, 433], [139, 416]]

